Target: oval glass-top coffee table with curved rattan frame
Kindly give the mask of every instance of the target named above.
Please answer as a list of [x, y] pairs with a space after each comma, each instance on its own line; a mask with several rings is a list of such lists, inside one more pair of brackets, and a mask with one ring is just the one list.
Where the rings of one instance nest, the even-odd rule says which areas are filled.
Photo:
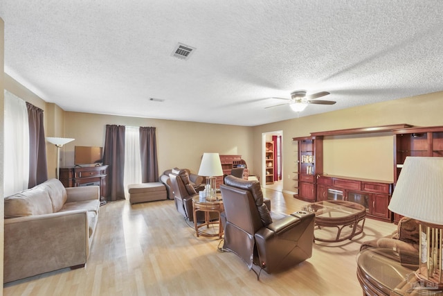
[[[363, 232], [366, 218], [366, 208], [356, 202], [346, 200], [323, 200], [313, 202], [302, 207], [303, 211], [308, 211], [316, 215], [316, 227], [337, 228], [334, 239], [319, 238], [314, 235], [314, 241], [339, 242], [352, 239]], [[361, 223], [361, 225], [360, 225]], [[350, 227], [350, 232], [343, 232], [345, 227]]]

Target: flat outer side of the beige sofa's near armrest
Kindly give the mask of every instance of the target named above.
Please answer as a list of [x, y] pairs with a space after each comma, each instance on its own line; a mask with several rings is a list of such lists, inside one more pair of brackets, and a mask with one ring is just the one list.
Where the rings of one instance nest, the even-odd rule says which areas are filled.
[[89, 256], [87, 211], [5, 219], [3, 281], [84, 265]]

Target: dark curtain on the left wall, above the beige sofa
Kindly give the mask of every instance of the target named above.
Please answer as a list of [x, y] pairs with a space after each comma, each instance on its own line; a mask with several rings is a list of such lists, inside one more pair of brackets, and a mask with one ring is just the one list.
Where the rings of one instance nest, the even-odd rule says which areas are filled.
[[26, 102], [29, 124], [29, 179], [28, 188], [48, 180], [43, 110]]

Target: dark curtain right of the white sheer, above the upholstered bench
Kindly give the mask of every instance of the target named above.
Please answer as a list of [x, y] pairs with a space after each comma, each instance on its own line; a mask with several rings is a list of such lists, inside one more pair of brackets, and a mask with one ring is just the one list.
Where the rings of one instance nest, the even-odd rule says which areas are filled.
[[159, 181], [155, 128], [140, 127], [141, 182]]

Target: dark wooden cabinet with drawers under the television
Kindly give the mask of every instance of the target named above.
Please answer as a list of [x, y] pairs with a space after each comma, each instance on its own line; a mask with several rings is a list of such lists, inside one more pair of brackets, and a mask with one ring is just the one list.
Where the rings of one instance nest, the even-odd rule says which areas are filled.
[[106, 200], [107, 169], [108, 166], [60, 168], [60, 182], [65, 187], [100, 186], [100, 200]]

